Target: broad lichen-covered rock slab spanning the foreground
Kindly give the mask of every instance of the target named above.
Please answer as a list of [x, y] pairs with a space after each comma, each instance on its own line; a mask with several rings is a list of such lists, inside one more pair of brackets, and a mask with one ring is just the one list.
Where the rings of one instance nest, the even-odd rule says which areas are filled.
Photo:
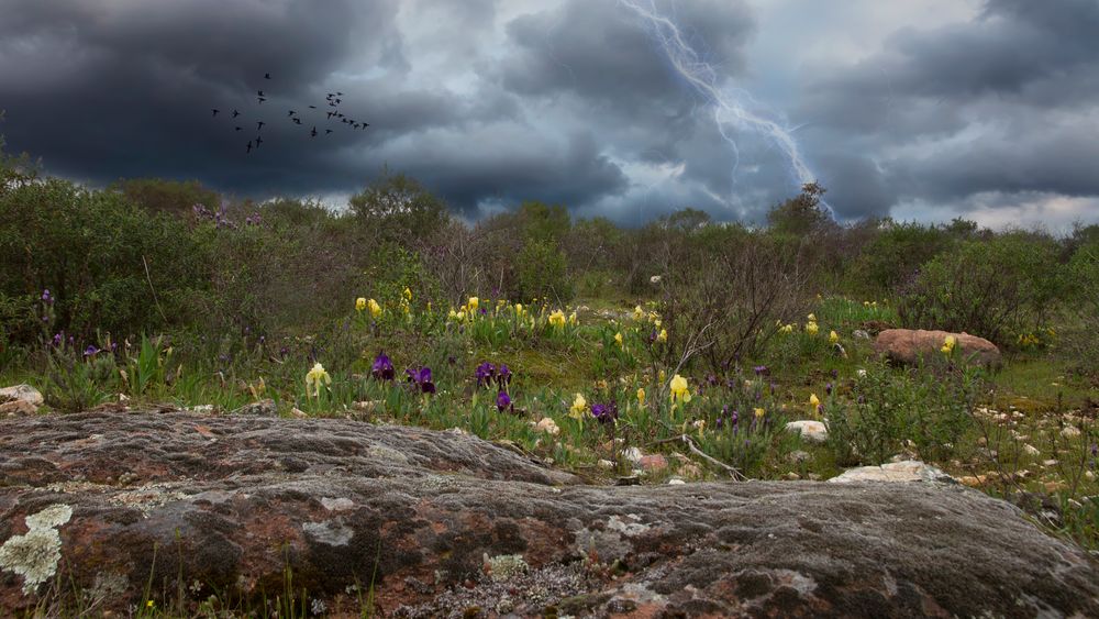
[[256, 611], [289, 573], [334, 615], [373, 583], [407, 617], [1099, 616], [1092, 559], [961, 485], [575, 482], [354, 421], [0, 421], [0, 608], [57, 585], [124, 610], [152, 583], [158, 608]]

